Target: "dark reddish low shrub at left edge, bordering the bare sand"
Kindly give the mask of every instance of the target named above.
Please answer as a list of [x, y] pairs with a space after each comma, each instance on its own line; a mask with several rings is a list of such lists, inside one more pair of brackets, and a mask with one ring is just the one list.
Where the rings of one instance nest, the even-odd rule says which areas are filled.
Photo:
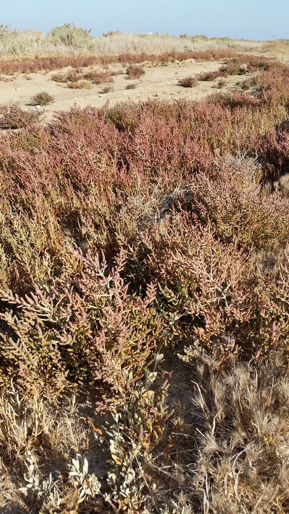
[[19, 102], [0, 106], [0, 128], [23, 128], [39, 122], [43, 118], [40, 111], [24, 111]]

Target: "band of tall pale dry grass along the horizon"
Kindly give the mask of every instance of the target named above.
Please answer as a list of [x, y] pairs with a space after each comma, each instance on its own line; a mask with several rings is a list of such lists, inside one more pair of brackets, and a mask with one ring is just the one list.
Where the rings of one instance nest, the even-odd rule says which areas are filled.
[[73, 26], [58, 27], [44, 34], [39, 31], [16, 31], [2, 26], [0, 56], [5, 59], [15, 57], [46, 57], [57, 55], [118, 54], [118, 53], [163, 53], [172, 50], [233, 49], [262, 50], [266, 42], [238, 41], [230, 38], [207, 38], [203, 35], [176, 37], [170, 34], [124, 34], [110, 32], [106, 36], [93, 37], [85, 30]]

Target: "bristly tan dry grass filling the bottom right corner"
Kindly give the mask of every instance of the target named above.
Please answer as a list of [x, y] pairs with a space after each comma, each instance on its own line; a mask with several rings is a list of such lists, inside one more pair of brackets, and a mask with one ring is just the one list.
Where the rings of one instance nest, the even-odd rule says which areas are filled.
[[154, 461], [158, 487], [188, 512], [287, 512], [287, 357], [231, 361], [220, 370], [192, 348], [185, 360], [194, 393], [175, 405], [169, 449]]

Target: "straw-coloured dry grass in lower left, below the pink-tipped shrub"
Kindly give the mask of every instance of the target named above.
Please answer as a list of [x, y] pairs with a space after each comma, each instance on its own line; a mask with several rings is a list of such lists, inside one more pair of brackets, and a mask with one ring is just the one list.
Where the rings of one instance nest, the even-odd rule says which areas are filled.
[[[52, 471], [53, 479], [61, 481], [67, 462], [76, 452], [91, 456], [96, 466], [96, 443], [89, 426], [81, 419], [76, 396], [67, 392], [62, 398], [34, 396], [25, 400], [13, 386], [0, 396], [0, 510], [2, 512], [39, 512], [39, 504], [31, 495], [19, 491], [25, 486], [27, 452], [33, 455], [40, 483]], [[87, 410], [87, 412], [89, 412]], [[93, 413], [91, 408], [90, 414]], [[89, 444], [89, 452], [87, 446]], [[102, 466], [104, 461], [102, 462]], [[32, 501], [31, 501], [32, 500]]]

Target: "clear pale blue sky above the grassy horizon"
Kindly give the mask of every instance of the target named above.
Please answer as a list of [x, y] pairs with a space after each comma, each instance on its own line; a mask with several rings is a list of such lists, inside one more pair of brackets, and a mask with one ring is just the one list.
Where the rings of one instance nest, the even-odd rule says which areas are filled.
[[120, 30], [289, 39], [289, 0], [0, 0], [0, 25], [49, 32], [64, 23], [98, 36]]

